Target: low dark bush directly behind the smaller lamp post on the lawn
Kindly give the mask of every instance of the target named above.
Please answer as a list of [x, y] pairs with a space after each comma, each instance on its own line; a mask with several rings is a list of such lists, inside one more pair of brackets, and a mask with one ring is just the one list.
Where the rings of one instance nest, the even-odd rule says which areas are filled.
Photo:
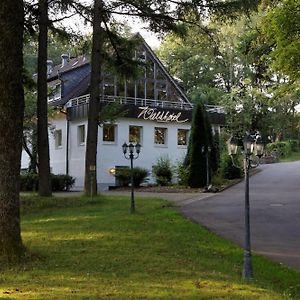
[[[147, 169], [134, 167], [132, 172], [134, 187], [139, 187], [142, 183], [147, 181], [147, 177], [149, 176], [149, 171]], [[117, 169], [115, 177], [120, 186], [128, 186], [131, 182], [131, 170], [129, 168]]]

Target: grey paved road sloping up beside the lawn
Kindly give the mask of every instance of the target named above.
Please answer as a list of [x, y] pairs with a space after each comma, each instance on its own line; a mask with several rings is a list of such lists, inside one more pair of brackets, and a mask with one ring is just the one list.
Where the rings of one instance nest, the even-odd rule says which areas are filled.
[[[252, 250], [300, 270], [300, 162], [262, 165], [250, 178]], [[243, 246], [244, 183], [183, 203], [190, 219]]]

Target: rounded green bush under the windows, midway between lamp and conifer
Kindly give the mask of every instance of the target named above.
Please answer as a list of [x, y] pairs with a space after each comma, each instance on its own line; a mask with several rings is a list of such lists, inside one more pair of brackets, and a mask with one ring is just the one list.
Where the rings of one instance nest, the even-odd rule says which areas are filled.
[[153, 174], [158, 185], [169, 185], [172, 181], [173, 170], [168, 157], [160, 157], [153, 166]]

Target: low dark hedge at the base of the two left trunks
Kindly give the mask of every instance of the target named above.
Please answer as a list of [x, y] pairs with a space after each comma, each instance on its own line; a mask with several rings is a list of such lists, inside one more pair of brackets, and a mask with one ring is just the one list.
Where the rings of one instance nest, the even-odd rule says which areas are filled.
[[[68, 191], [75, 183], [75, 179], [66, 174], [51, 174], [52, 191]], [[36, 173], [21, 174], [20, 190], [37, 191], [39, 178]]]

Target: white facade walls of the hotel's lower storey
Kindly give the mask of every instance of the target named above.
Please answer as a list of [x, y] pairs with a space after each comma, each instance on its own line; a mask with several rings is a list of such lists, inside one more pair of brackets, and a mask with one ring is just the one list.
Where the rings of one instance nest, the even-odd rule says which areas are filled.
[[[85, 149], [86, 144], [79, 143], [78, 126], [85, 126], [85, 138], [87, 136], [87, 120], [81, 119], [69, 122], [69, 174], [75, 178], [75, 188], [82, 189], [84, 186], [85, 172]], [[115, 177], [110, 172], [116, 166], [130, 166], [130, 161], [124, 158], [122, 145], [129, 143], [129, 126], [141, 126], [141, 153], [138, 159], [134, 160], [135, 167], [146, 168], [152, 171], [152, 166], [156, 164], [161, 156], [169, 157], [171, 163], [176, 165], [182, 161], [187, 146], [177, 144], [177, 130], [190, 130], [190, 123], [168, 122], [161, 123], [156, 121], [141, 120], [135, 118], [120, 118], [116, 122], [115, 142], [103, 141], [103, 128], [98, 130], [98, 153], [97, 153], [97, 180], [100, 189], [106, 189], [108, 186], [115, 185]], [[167, 128], [167, 142], [165, 145], [156, 145], [154, 143], [154, 128]], [[67, 120], [64, 114], [59, 114], [51, 120], [49, 130], [49, 149], [50, 149], [50, 167], [54, 174], [67, 173]], [[219, 131], [219, 126], [214, 126], [214, 131]], [[55, 141], [55, 131], [61, 130], [61, 146], [57, 147]], [[28, 167], [28, 157], [23, 151], [22, 168]], [[150, 176], [149, 182], [153, 183], [154, 178]]]

